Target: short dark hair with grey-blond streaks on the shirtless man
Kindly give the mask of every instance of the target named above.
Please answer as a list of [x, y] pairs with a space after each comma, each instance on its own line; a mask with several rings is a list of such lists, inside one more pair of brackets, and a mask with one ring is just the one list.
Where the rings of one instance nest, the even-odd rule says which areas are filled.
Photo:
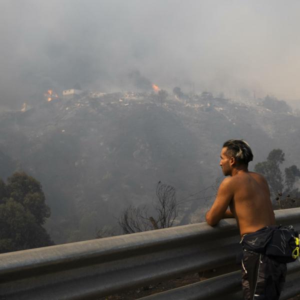
[[234, 157], [237, 163], [248, 165], [253, 159], [253, 154], [249, 144], [243, 139], [228, 139], [224, 142], [223, 147], [227, 147], [226, 155]]

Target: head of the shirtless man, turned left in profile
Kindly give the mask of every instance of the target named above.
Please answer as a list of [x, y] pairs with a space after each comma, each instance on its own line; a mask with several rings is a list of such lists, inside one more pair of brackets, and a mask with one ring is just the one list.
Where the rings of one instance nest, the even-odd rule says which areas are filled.
[[248, 167], [253, 154], [249, 144], [242, 139], [229, 139], [223, 143], [220, 166], [225, 176], [231, 175], [233, 168]]

